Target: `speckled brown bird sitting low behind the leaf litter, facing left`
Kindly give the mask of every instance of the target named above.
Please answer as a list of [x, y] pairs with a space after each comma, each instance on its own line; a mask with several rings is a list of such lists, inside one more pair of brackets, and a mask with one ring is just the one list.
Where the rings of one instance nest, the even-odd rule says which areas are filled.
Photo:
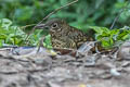
[[86, 41], [93, 40], [81, 29], [70, 26], [62, 18], [49, 20], [44, 24], [39, 24], [37, 28], [48, 28], [51, 35], [52, 47], [57, 49], [78, 49]]

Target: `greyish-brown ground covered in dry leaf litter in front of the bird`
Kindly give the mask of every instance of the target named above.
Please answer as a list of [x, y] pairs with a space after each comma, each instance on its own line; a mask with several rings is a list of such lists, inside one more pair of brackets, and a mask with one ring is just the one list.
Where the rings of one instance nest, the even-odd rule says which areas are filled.
[[0, 50], [0, 87], [130, 87], [130, 59], [118, 58], [117, 51], [77, 57], [24, 52]]

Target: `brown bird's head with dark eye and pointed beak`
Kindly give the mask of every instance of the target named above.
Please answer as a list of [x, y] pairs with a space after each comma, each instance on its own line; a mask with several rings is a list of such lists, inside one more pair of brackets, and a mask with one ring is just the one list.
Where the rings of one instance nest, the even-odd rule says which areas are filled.
[[50, 32], [61, 32], [64, 24], [66, 24], [66, 22], [61, 18], [52, 18], [44, 24], [38, 25], [37, 28], [48, 28]]

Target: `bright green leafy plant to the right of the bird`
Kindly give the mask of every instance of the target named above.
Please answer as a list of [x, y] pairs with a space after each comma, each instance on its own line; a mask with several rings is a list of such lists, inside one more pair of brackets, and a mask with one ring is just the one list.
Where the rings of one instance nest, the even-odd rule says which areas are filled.
[[125, 26], [119, 29], [108, 29], [106, 27], [91, 26], [95, 32], [95, 39], [101, 42], [102, 47], [108, 49], [119, 46], [130, 39], [130, 27]]

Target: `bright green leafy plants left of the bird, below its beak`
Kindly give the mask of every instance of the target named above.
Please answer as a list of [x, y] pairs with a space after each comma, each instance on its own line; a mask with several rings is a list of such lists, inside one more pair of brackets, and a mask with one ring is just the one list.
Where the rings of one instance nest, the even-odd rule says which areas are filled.
[[[5, 45], [15, 46], [37, 46], [41, 38], [42, 30], [36, 30], [26, 40], [27, 34], [18, 26], [12, 25], [12, 22], [8, 18], [0, 20], [0, 47]], [[28, 44], [27, 44], [28, 42]], [[46, 36], [43, 46], [51, 47], [50, 35]]]

